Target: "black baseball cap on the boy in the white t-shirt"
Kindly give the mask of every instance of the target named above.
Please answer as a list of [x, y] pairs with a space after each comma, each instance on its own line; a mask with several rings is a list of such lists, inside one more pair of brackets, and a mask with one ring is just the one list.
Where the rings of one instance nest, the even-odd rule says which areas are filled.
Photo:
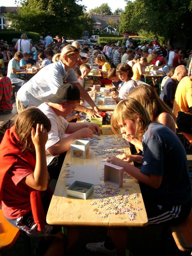
[[56, 94], [48, 99], [52, 103], [63, 103], [68, 100], [80, 100], [79, 88], [73, 84], [62, 84]]

